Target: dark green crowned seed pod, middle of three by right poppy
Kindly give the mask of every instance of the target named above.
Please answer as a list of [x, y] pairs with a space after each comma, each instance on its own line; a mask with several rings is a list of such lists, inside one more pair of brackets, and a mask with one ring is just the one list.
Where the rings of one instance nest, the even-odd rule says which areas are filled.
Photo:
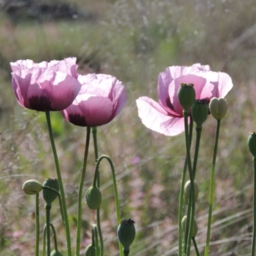
[[207, 100], [196, 100], [191, 107], [191, 115], [196, 126], [202, 127], [202, 124], [209, 115], [209, 106]]

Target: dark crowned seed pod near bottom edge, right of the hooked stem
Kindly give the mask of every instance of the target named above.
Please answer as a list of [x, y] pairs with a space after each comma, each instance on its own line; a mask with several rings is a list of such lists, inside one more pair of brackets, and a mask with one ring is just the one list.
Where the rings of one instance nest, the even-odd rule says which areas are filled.
[[124, 246], [123, 251], [124, 252], [129, 252], [130, 251], [130, 246], [132, 242], [134, 241], [135, 235], [136, 235], [136, 230], [134, 226], [134, 221], [131, 219], [128, 220], [120, 220], [119, 221], [119, 226], [117, 228], [117, 235], [120, 243], [122, 246]]

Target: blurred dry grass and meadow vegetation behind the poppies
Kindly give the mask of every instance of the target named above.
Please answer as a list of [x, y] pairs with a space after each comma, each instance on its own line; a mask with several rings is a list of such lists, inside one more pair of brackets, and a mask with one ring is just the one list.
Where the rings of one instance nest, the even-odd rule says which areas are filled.
[[[125, 85], [127, 104], [110, 124], [98, 128], [99, 154], [115, 164], [122, 218], [136, 222], [131, 255], [177, 255], [179, 186], [184, 134], [166, 137], [141, 124], [135, 100], [157, 100], [157, 76], [172, 65], [210, 65], [227, 72], [234, 88], [221, 122], [211, 255], [250, 255], [252, 156], [246, 140], [256, 129], [256, 5], [252, 0], [2, 0], [0, 12], [0, 252], [33, 255], [34, 198], [22, 193], [28, 179], [54, 176], [44, 113], [20, 108], [13, 94], [10, 61], [35, 62], [76, 56], [79, 74], [111, 74]], [[86, 129], [52, 113], [67, 204], [76, 235], [77, 182]], [[196, 180], [198, 248], [204, 252], [209, 178], [216, 122], [202, 132]], [[84, 184], [92, 184], [93, 145]], [[192, 147], [193, 152], [193, 147]], [[105, 255], [118, 255], [109, 166], [100, 167]], [[40, 201], [44, 220], [44, 202]], [[61, 252], [65, 236], [58, 204], [52, 223]], [[84, 204], [83, 246], [90, 243], [95, 212]], [[41, 230], [44, 226], [41, 221]], [[74, 234], [73, 234], [74, 232]], [[74, 239], [73, 244], [76, 241]], [[81, 250], [83, 255], [83, 250]], [[65, 253], [63, 252], [63, 255]], [[192, 255], [194, 255], [192, 253]]]

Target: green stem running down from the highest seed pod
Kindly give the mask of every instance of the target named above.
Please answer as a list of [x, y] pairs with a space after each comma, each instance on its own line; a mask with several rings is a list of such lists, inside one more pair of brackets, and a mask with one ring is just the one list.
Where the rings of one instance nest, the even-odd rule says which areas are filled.
[[186, 221], [186, 230], [185, 230], [185, 244], [184, 250], [185, 255], [189, 256], [190, 254], [190, 246], [191, 246], [191, 231], [194, 223], [194, 215], [195, 215], [195, 196], [194, 196], [194, 175], [191, 165], [191, 157], [190, 157], [190, 143], [189, 143], [189, 132], [188, 132], [188, 116], [189, 112], [183, 111], [184, 115], [184, 126], [185, 126], [185, 138], [186, 138], [186, 154], [188, 159], [188, 170], [189, 170], [189, 178], [191, 184], [191, 207], [188, 207], [187, 221]]

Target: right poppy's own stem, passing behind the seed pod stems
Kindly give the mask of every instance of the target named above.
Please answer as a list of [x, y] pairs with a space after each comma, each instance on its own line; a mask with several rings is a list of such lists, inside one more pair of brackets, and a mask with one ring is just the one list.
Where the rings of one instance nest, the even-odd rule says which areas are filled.
[[[189, 123], [189, 144], [191, 145], [192, 141], [192, 134], [193, 134], [193, 119], [190, 117]], [[182, 213], [183, 213], [183, 205], [184, 205], [184, 186], [186, 181], [186, 170], [188, 167], [188, 160], [187, 157], [185, 159], [182, 177], [181, 177], [181, 185], [180, 185], [180, 196], [179, 196], [179, 256], [182, 256]]]

